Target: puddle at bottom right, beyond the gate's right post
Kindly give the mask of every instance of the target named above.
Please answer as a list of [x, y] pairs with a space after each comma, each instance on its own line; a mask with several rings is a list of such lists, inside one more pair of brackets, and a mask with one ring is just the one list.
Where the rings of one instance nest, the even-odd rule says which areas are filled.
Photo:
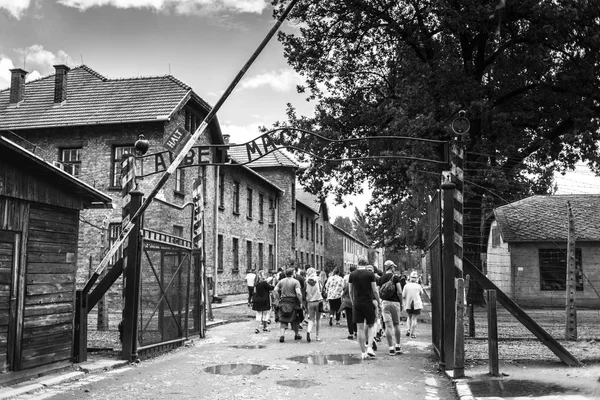
[[576, 388], [567, 388], [554, 383], [528, 380], [489, 380], [469, 383], [474, 397], [527, 397], [553, 394], [577, 393]]

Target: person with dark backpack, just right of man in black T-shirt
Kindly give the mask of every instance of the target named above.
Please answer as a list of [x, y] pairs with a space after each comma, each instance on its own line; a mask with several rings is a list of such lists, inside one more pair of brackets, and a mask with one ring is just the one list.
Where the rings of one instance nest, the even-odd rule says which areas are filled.
[[402, 312], [402, 284], [400, 276], [395, 274], [396, 264], [387, 260], [383, 264], [384, 274], [379, 279], [379, 297], [385, 324], [385, 338], [388, 342], [389, 355], [402, 354], [400, 347], [400, 313]]

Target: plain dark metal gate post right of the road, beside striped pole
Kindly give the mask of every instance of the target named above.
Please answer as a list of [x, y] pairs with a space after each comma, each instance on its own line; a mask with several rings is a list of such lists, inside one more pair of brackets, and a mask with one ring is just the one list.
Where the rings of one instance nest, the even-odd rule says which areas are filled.
[[444, 238], [444, 254], [442, 262], [442, 351], [443, 368], [454, 368], [454, 324], [455, 324], [455, 290], [454, 290], [454, 189], [452, 182], [442, 183], [444, 214], [442, 232]]

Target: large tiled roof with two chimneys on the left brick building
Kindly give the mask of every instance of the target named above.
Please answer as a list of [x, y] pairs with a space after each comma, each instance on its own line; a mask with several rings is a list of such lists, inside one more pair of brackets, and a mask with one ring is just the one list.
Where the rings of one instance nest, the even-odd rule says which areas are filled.
[[[54, 79], [53, 74], [27, 82], [24, 100], [16, 104], [10, 103], [10, 88], [0, 90], [0, 129], [168, 121], [190, 98], [210, 110], [189, 86], [171, 75], [109, 79], [81, 65], [67, 73], [67, 97], [62, 103], [54, 102]], [[211, 132], [217, 135], [215, 143], [223, 143], [216, 117]]]

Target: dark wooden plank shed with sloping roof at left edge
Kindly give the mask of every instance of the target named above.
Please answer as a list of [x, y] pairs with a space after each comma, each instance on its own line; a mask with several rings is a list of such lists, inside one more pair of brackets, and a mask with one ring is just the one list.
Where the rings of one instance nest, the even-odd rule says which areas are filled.
[[0, 383], [70, 364], [79, 212], [110, 204], [0, 136]]

